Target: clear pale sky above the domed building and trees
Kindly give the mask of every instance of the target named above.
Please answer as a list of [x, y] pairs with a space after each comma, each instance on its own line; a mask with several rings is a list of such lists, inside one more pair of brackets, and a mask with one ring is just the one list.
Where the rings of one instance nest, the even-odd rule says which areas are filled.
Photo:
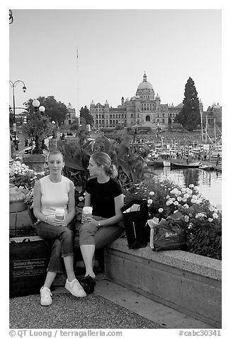
[[221, 9], [11, 9], [9, 77], [27, 87], [16, 107], [50, 95], [118, 107], [144, 72], [162, 104], [182, 102], [192, 77], [204, 110], [222, 105]]

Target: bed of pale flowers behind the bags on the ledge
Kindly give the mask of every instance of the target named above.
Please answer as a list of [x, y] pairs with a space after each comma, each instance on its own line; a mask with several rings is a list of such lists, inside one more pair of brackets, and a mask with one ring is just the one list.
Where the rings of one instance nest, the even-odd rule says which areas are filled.
[[184, 214], [187, 251], [221, 259], [222, 213], [198, 192], [198, 187], [176, 187], [167, 180], [151, 180], [134, 185], [124, 194], [125, 203], [134, 197], [147, 199], [150, 218], [166, 219], [176, 211]]

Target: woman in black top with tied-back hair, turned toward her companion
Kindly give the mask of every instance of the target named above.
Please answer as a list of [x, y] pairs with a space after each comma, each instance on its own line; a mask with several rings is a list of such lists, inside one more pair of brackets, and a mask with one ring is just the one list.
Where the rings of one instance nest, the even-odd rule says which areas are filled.
[[123, 191], [113, 179], [118, 173], [108, 154], [92, 154], [88, 170], [91, 178], [86, 183], [84, 207], [93, 209], [92, 217], [82, 215], [79, 246], [86, 267], [85, 281], [92, 281], [96, 277], [92, 266], [95, 249], [108, 245], [123, 231]]

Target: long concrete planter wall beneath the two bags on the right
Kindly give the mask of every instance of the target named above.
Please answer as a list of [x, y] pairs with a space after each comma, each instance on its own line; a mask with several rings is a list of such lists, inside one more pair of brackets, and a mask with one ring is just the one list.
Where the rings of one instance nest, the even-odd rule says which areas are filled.
[[106, 249], [108, 279], [147, 298], [221, 327], [221, 261], [185, 251], [130, 250], [126, 239]]

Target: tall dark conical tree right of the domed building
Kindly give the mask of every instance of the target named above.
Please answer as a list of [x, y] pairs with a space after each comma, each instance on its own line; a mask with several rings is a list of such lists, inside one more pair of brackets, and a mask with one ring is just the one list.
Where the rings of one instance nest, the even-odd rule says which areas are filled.
[[174, 122], [181, 124], [188, 131], [196, 129], [201, 121], [199, 99], [197, 94], [193, 79], [188, 77], [184, 90], [184, 105], [174, 119]]

